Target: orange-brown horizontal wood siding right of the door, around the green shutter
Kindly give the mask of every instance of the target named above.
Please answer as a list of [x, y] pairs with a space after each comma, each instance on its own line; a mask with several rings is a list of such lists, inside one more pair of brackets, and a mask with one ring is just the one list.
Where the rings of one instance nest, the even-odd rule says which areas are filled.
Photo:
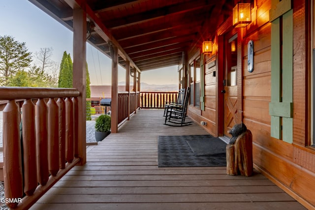
[[[263, 1], [262, 1], [263, 2]], [[259, 4], [259, 2], [257, 2]], [[302, 5], [301, 5], [302, 4]], [[303, 3], [294, 4], [293, 45], [305, 45], [305, 16]], [[260, 8], [266, 12], [270, 6], [264, 2]], [[265, 12], [262, 12], [262, 14]], [[299, 17], [300, 16], [300, 17]], [[255, 168], [267, 175], [308, 209], [315, 209], [315, 152], [305, 147], [307, 142], [307, 100], [305, 49], [299, 47], [294, 54], [293, 76], [293, 144], [270, 136], [269, 102], [271, 101], [271, 27], [262, 23], [260, 28], [246, 31], [243, 42], [243, 117], [252, 131], [253, 161]], [[298, 29], [298, 28], [303, 29]], [[254, 70], [247, 70], [247, 43], [254, 41]], [[297, 146], [297, 144], [301, 146]], [[272, 163], [272, 164], [271, 164]]]

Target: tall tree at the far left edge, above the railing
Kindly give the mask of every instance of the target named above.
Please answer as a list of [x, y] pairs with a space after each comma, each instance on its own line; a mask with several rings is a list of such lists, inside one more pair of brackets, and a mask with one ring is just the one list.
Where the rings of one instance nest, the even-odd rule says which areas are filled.
[[0, 36], [0, 85], [9, 85], [11, 77], [30, 67], [31, 54], [25, 42], [18, 42], [9, 35]]

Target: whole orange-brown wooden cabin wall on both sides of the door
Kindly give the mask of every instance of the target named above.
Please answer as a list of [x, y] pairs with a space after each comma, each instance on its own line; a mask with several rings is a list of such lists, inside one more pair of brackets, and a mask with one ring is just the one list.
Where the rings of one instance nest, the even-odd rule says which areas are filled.
[[[279, 2], [279, 0], [278, 0]], [[271, 23], [269, 11], [277, 0], [252, 1], [252, 23], [246, 28], [233, 29], [229, 17], [217, 30], [214, 38], [215, 50], [206, 55], [204, 62], [205, 108], [198, 111], [189, 105], [188, 114], [213, 136], [221, 136], [220, 114], [222, 102], [219, 99], [223, 72], [223, 55], [220, 51], [222, 36], [231, 30], [238, 34], [241, 56], [238, 58], [238, 82], [241, 82], [241, 119], [252, 131], [254, 168], [266, 175], [284, 191], [308, 209], [315, 209], [315, 149], [310, 147], [309, 105], [309, 10], [310, 1], [293, 0], [293, 126], [292, 143], [271, 137]], [[248, 71], [249, 40], [254, 43], [254, 70]], [[218, 50], [219, 49], [219, 50]], [[192, 54], [192, 53], [191, 53]], [[192, 55], [189, 54], [189, 59]], [[190, 60], [189, 60], [190, 61]], [[214, 76], [213, 71], [216, 71]], [[281, 135], [283, 135], [281, 133]]]

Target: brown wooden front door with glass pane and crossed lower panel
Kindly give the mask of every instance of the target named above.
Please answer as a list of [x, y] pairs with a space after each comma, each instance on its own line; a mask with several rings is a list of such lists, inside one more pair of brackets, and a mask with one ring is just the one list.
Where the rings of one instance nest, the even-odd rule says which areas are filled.
[[237, 123], [237, 36], [225, 38], [224, 136]]

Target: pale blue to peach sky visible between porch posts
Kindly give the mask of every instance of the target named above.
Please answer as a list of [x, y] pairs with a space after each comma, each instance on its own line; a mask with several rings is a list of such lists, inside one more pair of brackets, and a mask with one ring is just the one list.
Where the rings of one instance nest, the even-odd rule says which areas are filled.
[[[64, 51], [70, 53], [71, 57], [73, 54], [73, 33], [28, 0], [0, 0], [0, 36], [4, 35], [11, 35], [16, 41], [25, 42], [33, 56], [40, 48], [52, 47], [51, 59], [58, 63], [61, 62]], [[111, 84], [111, 59], [89, 43], [87, 62], [91, 85]], [[125, 81], [125, 69], [120, 66], [119, 81]], [[143, 71], [141, 82], [177, 84], [177, 66]]]

